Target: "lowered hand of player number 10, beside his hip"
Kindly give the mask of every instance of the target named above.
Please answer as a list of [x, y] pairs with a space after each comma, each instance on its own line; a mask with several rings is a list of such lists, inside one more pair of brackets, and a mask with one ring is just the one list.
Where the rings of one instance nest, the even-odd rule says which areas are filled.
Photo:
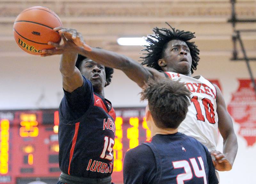
[[212, 162], [216, 170], [218, 171], [230, 171], [232, 169], [232, 164], [225, 156], [225, 154], [219, 151], [212, 151], [211, 155], [213, 157]]

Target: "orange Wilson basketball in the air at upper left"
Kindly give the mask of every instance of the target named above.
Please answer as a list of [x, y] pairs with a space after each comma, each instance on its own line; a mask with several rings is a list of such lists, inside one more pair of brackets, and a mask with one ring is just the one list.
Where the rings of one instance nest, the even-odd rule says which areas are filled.
[[14, 21], [13, 33], [18, 46], [27, 53], [40, 55], [42, 49], [50, 49], [49, 41], [60, 43], [61, 37], [53, 31], [62, 27], [60, 18], [50, 9], [33, 6], [22, 11]]

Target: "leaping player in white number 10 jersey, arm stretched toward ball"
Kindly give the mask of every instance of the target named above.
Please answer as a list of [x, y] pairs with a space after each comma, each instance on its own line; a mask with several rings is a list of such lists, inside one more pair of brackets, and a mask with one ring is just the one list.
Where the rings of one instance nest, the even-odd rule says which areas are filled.
[[[79, 53], [104, 66], [122, 70], [141, 88], [149, 78], [166, 77], [164, 72], [184, 75], [184, 81], [192, 83], [192, 86], [188, 84], [188, 87], [191, 87], [192, 91], [194, 87], [196, 92], [191, 98], [191, 107], [188, 117], [182, 123], [183, 130], [181, 132], [186, 132], [206, 145], [209, 150], [212, 150], [212, 155], [215, 157], [213, 162], [215, 169], [219, 171], [231, 170], [238, 147], [232, 119], [228, 114], [220, 89], [216, 85], [210, 84], [202, 76], [191, 76], [200, 60], [197, 46], [194, 42], [189, 42], [195, 38], [194, 33], [176, 30], [172, 27], [171, 29], [154, 28], [154, 35], [147, 37], [149, 45], [144, 49], [147, 53], [143, 57], [142, 64], [148, 66], [145, 68], [121, 54], [97, 48], [91, 48], [91, 51], [87, 51], [88, 45], [84, 43], [81, 33], [75, 29], [58, 27], [54, 30], [63, 34], [68, 42], [64, 45], [49, 43], [55, 48], [43, 50], [44, 56], [61, 54], [63, 50]], [[181, 78], [183, 80], [183, 77]], [[194, 83], [195, 86], [193, 86]], [[200, 85], [200, 88], [197, 88], [197, 85]], [[205, 96], [202, 96], [203, 94]], [[193, 106], [195, 106], [194, 109]], [[215, 150], [217, 127], [223, 137], [223, 153]]]

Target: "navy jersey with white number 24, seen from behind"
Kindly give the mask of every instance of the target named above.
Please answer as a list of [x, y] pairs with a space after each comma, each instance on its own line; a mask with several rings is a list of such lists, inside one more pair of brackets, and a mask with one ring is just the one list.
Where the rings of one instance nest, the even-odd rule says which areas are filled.
[[155, 135], [126, 152], [124, 183], [218, 184], [212, 158], [196, 139], [180, 132]]

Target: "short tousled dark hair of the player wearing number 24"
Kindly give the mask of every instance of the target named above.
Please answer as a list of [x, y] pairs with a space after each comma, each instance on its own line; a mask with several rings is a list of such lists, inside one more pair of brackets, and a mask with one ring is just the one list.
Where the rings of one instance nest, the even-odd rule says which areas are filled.
[[191, 94], [185, 83], [169, 78], [149, 79], [140, 94], [142, 101], [148, 100], [157, 127], [176, 129], [185, 119]]

